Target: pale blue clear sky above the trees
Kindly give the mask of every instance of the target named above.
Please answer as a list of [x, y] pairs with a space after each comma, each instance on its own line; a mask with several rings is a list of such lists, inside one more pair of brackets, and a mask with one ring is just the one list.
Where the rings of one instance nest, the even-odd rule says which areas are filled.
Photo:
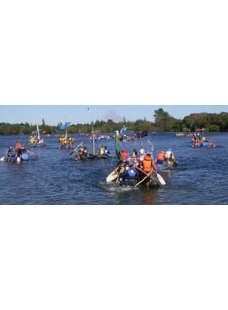
[[162, 108], [183, 119], [191, 113], [228, 112], [228, 105], [0, 105], [0, 122], [57, 125], [59, 122], [90, 123], [112, 119], [115, 122], [146, 119], [153, 121], [154, 111]]

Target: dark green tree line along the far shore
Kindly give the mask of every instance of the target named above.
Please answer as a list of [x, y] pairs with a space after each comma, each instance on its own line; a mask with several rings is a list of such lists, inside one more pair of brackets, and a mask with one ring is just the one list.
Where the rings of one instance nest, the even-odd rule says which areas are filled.
[[[44, 119], [39, 125], [40, 132], [43, 134], [61, 134], [59, 129], [62, 123], [57, 126], [46, 125]], [[176, 119], [169, 115], [162, 108], [154, 111], [154, 122], [146, 119], [138, 119], [135, 122], [127, 121], [114, 122], [97, 120], [88, 124], [72, 124], [68, 129], [69, 134], [90, 134], [94, 132], [111, 133], [126, 126], [128, 131], [154, 131], [154, 132], [194, 132], [196, 129], [204, 129], [206, 132], [225, 132], [228, 131], [228, 113], [193, 113], [183, 119]], [[26, 123], [10, 124], [0, 123], [0, 135], [31, 134], [36, 131], [36, 125]]]

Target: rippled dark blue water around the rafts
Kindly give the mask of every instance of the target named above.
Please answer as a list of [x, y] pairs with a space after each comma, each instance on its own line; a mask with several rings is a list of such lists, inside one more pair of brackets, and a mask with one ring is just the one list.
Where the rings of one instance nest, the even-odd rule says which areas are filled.
[[[143, 145], [154, 154], [171, 148], [178, 166], [163, 173], [167, 185], [156, 189], [124, 188], [106, 184], [106, 176], [117, 159], [75, 161], [69, 150], [59, 150], [54, 136], [45, 139], [46, 148], [30, 148], [36, 157], [21, 164], [0, 162], [2, 205], [217, 205], [227, 204], [228, 134], [208, 135], [215, 149], [193, 149], [191, 138], [176, 138], [174, 133], [150, 134], [135, 142], [125, 142], [130, 151]], [[86, 137], [74, 136], [88, 149]], [[28, 136], [0, 136], [0, 157], [8, 145], [20, 140], [26, 146]], [[100, 141], [115, 155], [114, 140]]]

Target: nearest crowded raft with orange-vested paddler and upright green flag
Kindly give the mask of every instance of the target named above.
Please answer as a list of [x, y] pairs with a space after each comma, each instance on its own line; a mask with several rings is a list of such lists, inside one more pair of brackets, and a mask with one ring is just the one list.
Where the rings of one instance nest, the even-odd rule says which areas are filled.
[[[116, 183], [120, 186], [145, 186], [148, 188], [166, 185], [163, 177], [156, 171], [151, 154], [146, 153], [144, 160], [151, 162], [149, 169], [142, 167], [142, 162], [137, 154], [128, 155], [127, 150], [120, 150], [119, 132], [115, 133], [115, 150], [119, 160], [114, 170], [106, 177], [107, 183]], [[140, 155], [142, 156], [142, 154]], [[147, 156], [147, 158], [146, 158]], [[143, 162], [144, 162], [143, 160]]]

